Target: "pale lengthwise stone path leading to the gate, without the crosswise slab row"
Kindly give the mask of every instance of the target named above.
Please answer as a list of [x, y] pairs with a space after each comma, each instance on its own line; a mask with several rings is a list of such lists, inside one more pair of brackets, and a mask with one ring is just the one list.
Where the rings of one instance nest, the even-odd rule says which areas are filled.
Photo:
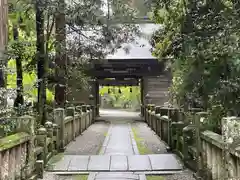
[[[103, 155], [138, 155], [138, 148], [129, 123], [137, 118], [137, 113], [122, 112], [117, 110], [101, 111], [102, 118], [110, 121], [107, 137], [103, 143], [101, 153]], [[119, 158], [119, 157], [118, 157]], [[127, 161], [128, 162], [128, 161]], [[118, 165], [116, 165], [118, 166]], [[120, 165], [122, 166], [122, 165]], [[129, 165], [127, 166], [129, 168]], [[90, 173], [88, 180], [146, 180], [145, 175], [136, 175], [133, 172], [122, 173]]]

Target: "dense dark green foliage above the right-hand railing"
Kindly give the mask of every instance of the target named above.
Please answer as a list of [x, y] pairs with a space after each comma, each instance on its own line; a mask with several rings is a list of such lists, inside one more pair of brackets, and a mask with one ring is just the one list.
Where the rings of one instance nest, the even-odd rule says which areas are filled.
[[163, 28], [153, 36], [153, 54], [169, 59], [179, 106], [223, 107], [217, 118], [239, 114], [239, 10], [235, 0], [156, 0], [152, 18]]

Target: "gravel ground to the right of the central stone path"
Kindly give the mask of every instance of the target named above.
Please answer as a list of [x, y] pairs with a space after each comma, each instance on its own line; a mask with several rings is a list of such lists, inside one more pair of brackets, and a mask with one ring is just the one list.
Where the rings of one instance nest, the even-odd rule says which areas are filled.
[[[166, 153], [166, 147], [159, 137], [144, 122], [135, 122], [132, 128], [136, 131], [137, 137], [141, 143], [153, 154]], [[195, 180], [193, 172], [184, 169], [182, 173], [173, 175], [161, 175], [164, 180]]]

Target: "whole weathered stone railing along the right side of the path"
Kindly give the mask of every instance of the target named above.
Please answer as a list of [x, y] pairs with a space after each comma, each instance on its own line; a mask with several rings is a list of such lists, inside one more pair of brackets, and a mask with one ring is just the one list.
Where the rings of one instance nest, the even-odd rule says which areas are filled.
[[[150, 128], [196, 171], [199, 179], [238, 179], [240, 177], [240, 119], [223, 118], [223, 135], [209, 130], [208, 113], [192, 109], [186, 117], [182, 110], [144, 108]], [[224, 179], [223, 178], [223, 179]]]

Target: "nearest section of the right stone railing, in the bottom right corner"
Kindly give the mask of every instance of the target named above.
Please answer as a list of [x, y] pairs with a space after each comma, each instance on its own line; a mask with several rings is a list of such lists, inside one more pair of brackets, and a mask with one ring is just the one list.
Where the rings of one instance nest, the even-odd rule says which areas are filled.
[[240, 143], [229, 144], [212, 131], [201, 133], [199, 175], [213, 180], [239, 179]]

